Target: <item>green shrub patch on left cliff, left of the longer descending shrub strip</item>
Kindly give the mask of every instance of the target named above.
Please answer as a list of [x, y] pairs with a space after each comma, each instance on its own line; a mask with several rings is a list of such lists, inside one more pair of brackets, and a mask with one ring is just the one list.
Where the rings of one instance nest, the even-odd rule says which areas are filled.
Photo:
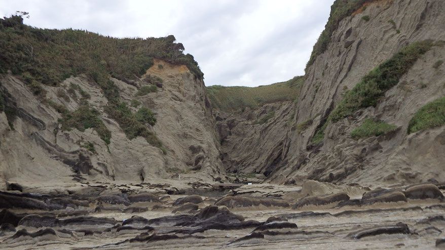
[[106, 144], [110, 143], [111, 132], [105, 127], [99, 112], [88, 106], [81, 106], [74, 112], [63, 112], [62, 119], [59, 120], [62, 130], [75, 128], [81, 132], [86, 129], [94, 129]]

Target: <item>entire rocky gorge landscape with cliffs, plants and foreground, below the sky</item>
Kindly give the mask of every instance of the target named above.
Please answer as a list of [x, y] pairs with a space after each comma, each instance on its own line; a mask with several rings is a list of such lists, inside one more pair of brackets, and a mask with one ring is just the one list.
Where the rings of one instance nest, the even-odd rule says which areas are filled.
[[0, 19], [0, 248], [445, 247], [444, 11], [336, 0], [253, 88], [173, 35]]

